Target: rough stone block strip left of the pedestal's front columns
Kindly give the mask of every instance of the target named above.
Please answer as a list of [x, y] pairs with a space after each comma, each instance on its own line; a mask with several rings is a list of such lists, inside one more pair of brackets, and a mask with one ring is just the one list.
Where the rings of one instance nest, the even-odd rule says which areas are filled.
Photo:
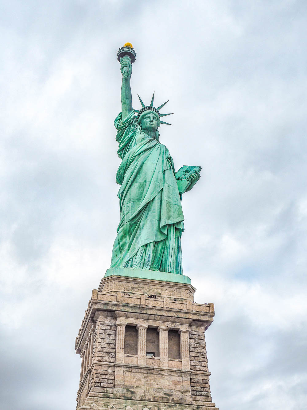
[[115, 318], [99, 316], [94, 333], [93, 361], [95, 365], [90, 377], [94, 391], [113, 393], [115, 380]]

